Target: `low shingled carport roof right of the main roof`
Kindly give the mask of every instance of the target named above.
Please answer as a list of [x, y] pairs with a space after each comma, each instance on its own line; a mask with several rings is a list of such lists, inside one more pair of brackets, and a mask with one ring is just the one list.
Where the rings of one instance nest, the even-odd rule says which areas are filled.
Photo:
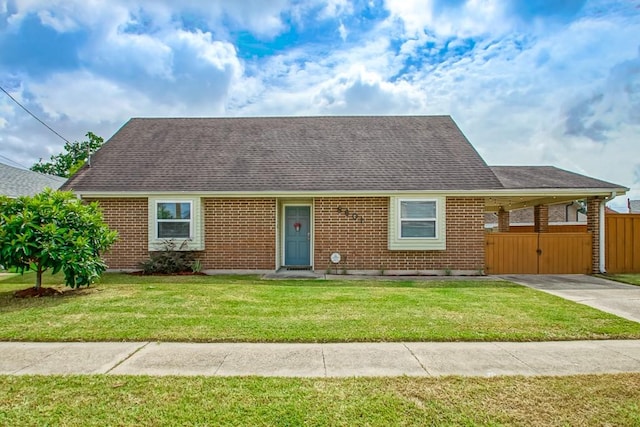
[[611, 188], [620, 185], [553, 166], [491, 166], [504, 188]]

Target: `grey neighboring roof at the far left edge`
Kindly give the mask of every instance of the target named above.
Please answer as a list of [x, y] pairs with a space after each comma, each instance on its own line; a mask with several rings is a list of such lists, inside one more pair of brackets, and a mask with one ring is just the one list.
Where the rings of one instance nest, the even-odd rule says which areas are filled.
[[66, 181], [59, 176], [44, 175], [0, 163], [0, 195], [9, 197], [33, 196], [51, 188], [56, 190]]

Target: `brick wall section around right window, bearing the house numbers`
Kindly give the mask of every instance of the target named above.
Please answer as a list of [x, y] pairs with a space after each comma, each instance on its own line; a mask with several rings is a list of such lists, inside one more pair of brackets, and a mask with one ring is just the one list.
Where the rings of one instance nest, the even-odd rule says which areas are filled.
[[[358, 218], [347, 217], [337, 207]], [[484, 268], [484, 200], [447, 198], [445, 251], [390, 251], [387, 249], [389, 199], [317, 198], [314, 205], [316, 270], [331, 266], [329, 256], [339, 252], [339, 269], [347, 270], [478, 270]]]

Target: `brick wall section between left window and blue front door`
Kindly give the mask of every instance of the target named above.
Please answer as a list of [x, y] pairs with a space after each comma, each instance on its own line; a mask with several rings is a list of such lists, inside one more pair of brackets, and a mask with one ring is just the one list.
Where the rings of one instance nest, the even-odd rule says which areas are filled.
[[204, 269], [275, 269], [275, 199], [204, 199]]

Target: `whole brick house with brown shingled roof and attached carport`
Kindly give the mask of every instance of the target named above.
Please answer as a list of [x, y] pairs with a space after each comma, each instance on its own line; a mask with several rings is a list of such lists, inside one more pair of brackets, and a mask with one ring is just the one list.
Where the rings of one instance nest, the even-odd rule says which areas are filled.
[[510, 210], [534, 206], [544, 229], [548, 204], [577, 199], [597, 271], [600, 211], [627, 190], [489, 167], [448, 116], [134, 118], [63, 189], [118, 231], [110, 269], [173, 240], [210, 272], [370, 274], [480, 273], [486, 212], [508, 228]]

